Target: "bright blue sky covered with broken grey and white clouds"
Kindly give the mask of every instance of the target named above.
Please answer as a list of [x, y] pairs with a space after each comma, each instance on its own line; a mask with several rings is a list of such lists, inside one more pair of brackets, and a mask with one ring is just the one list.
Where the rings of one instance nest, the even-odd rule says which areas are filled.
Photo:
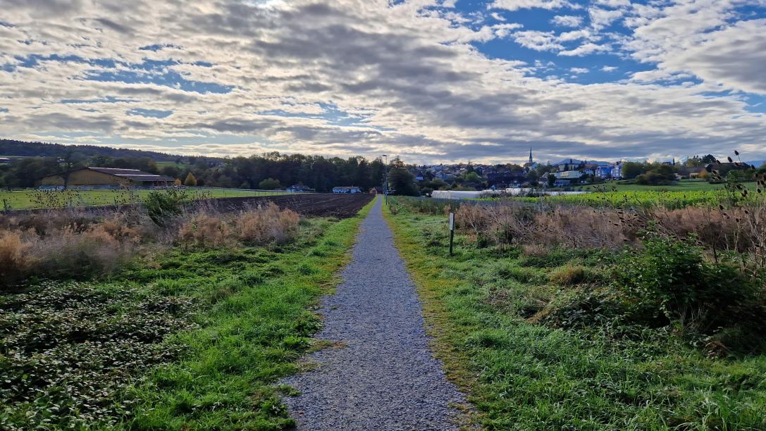
[[766, 0], [0, 0], [0, 136], [411, 163], [766, 158]]

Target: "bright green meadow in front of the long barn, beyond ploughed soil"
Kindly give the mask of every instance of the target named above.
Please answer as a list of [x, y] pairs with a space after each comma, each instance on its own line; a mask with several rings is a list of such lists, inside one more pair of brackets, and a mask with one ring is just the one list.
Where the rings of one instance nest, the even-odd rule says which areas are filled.
[[[284, 194], [284, 191], [247, 191], [237, 188], [188, 188], [195, 198], [244, 198]], [[0, 208], [25, 210], [45, 207], [97, 206], [139, 202], [150, 190], [0, 191]]]

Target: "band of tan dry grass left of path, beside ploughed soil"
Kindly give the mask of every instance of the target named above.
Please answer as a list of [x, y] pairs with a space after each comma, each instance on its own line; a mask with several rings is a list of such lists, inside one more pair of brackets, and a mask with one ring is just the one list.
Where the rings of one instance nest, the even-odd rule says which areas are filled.
[[47, 211], [0, 217], [0, 289], [31, 276], [83, 279], [115, 273], [132, 260], [172, 244], [217, 248], [293, 240], [300, 224], [294, 211], [275, 204], [221, 214], [211, 208], [182, 214], [158, 227], [142, 211], [98, 213]]

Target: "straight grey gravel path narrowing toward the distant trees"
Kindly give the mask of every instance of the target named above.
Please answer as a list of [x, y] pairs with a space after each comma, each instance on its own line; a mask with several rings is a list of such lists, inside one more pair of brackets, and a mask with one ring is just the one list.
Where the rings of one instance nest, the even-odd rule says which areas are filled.
[[383, 220], [381, 199], [362, 222], [352, 262], [323, 301], [314, 371], [284, 380], [299, 429], [457, 429], [465, 404], [428, 349], [421, 304]]

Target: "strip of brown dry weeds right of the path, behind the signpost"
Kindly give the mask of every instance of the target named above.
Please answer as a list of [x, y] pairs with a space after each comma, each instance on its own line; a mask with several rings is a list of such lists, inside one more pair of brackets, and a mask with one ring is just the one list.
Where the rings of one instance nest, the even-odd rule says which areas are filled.
[[[637, 211], [592, 207], [531, 207], [509, 203], [484, 207], [462, 204], [457, 226], [481, 247], [517, 244], [524, 247], [640, 247], [641, 233], [689, 238], [711, 253], [735, 252], [743, 266], [766, 266], [766, 201], [738, 207], [664, 207]], [[534, 253], [532, 253], [534, 254]], [[745, 262], [748, 260], [748, 262]]]

